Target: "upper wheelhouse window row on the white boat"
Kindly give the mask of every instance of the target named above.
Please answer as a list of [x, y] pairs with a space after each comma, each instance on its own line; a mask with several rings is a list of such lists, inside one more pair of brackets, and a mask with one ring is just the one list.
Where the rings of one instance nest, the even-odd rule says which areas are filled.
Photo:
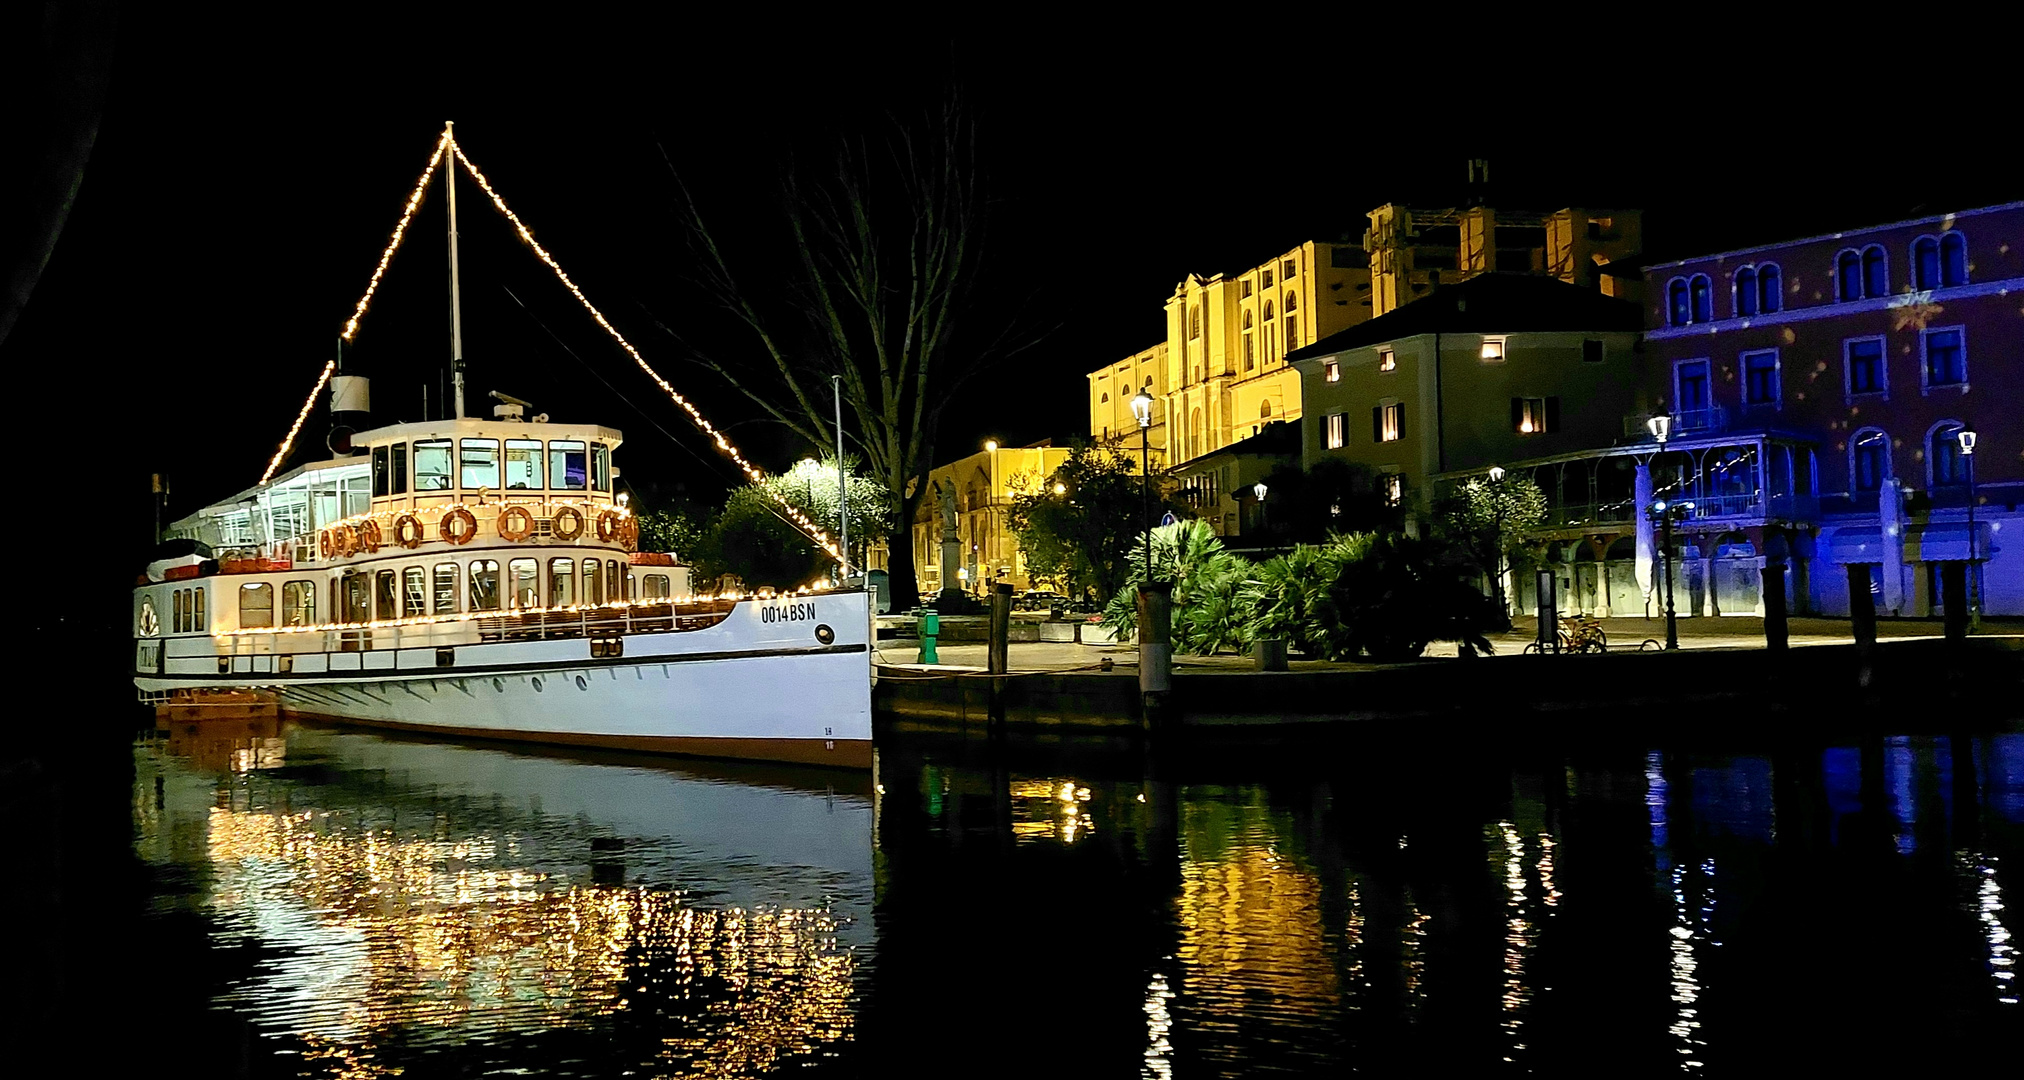
[[417, 439], [372, 447], [372, 496], [609, 491], [611, 447], [583, 439]]

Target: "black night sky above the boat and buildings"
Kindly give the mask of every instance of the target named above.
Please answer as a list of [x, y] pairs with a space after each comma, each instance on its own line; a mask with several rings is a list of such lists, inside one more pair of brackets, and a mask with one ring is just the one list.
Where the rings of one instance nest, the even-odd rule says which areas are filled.
[[[0, 346], [6, 370], [26, 374], [32, 415], [63, 425], [51, 435], [89, 439], [57, 457], [81, 459], [134, 518], [146, 518], [150, 471], [170, 473], [172, 512], [259, 475], [443, 119], [457, 121], [480, 168], [648, 358], [769, 465], [804, 447], [753, 423], [646, 318], [686, 320], [692, 307], [692, 255], [658, 144], [721, 239], [759, 251], [749, 245], [769, 237], [789, 152], [820, 158], [834, 131], [876, 127], [943, 87], [963, 89], [996, 196], [996, 299], [984, 316], [1018, 307], [1024, 326], [1050, 334], [959, 398], [945, 455], [988, 435], [1079, 433], [1083, 372], [1154, 344], [1182, 275], [1358, 231], [1384, 200], [1451, 200], [1469, 156], [1492, 158], [1504, 204], [1643, 206], [1648, 253], [1674, 257], [2024, 190], [2004, 140], [1963, 138], [2002, 123], [1996, 75], [1986, 85], [1959, 75], [1945, 107], [1878, 85], [1846, 109], [1834, 87], [1846, 65], [1824, 44], [1611, 53], [1607, 40], [1633, 40], [1617, 28], [1581, 49], [1571, 67], [1583, 75], [1540, 77], [1552, 42], [1522, 28], [1486, 47], [1469, 77], [1459, 40], [1413, 44], [1403, 30], [1362, 24], [1257, 51], [1235, 34], [1067, 40], [1055, 26], [868, 34], [672, 16], [555, 26], [265, 12], [121, 14], [83, 192]], [[1210, 63], [1212, 44], [1289, 63]], [[1739, 83], [1735, 65], [1755, 65], [1755, 83]], [[1664, 97], [1678, 83], [1692, 91]], [[1733, 85], [1761, 87], [1749, 91], [1755, 103], [1724, 103], [1733, 91], [1720, 87]], [[1765, 119], [1739, 119], [1751, 115]], [[634, 483], [686, 477], [700, 493], [721, 489], [712, 477], [729, 469], [690, 453], [702, 443], [672, 407], [476, 190], [466, 184], [461, 196], [474, 413], [490, 404], [484, 390], [508, 390], [557, 419], [625, 429]], [[421, 384], [447, 360], [441, 212], [437, 186], [350, 354], [374, 376], [383, 419], [415, 419]], [[684, 332], [757, 360], [710, 324]], [[690, 451], [615, 400], [599, 374]], [[306, 435], [320, 441], [316, 421]]]

